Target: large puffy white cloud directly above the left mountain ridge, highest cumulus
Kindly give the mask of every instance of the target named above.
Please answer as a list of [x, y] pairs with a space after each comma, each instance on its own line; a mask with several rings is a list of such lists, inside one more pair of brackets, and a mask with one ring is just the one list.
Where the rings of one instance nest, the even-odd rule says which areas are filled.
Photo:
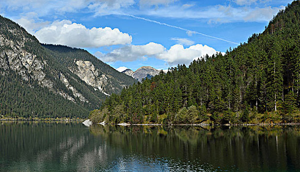
[[55, 21], [34, 33], [42, 43], [63, 44], [71, 47], [103, 47], [129, 44], [132, 36], [119, 29], [92, 28], [72, 23], [69, 20]]

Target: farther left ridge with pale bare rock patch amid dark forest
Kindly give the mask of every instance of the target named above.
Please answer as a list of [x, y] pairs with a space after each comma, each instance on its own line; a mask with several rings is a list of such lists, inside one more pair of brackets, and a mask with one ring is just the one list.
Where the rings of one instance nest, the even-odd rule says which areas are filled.
[[88, 85], [112, 94], [120, 93], [123, 87], [133, 85], [136, 81], [118, 72], [108, 64], [83, 49], [63, 45], [42, 44], [62, 65], [78, 75]]

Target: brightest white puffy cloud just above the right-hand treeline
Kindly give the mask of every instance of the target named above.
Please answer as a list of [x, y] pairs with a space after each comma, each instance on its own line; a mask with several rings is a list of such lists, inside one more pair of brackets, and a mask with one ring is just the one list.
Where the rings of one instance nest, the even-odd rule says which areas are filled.
[[189, 64], [192, 60], [208, 54], [209, 56], [215, 54], [217, 51], [207, 45], [192, 45], [189, 48], [184, 48], [182, 45], [173, 45], [169, 50], [157, 55], [158, 58], [167, 61], [171, 65]]

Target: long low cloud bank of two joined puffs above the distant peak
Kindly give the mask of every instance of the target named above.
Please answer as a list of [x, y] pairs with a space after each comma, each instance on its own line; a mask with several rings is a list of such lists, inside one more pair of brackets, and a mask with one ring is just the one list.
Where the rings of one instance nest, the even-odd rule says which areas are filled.
[[184, 48], [183, 45], [175, 44], [167, 50], [161, 44], [150, 42], [146, 45], [130, 45], [113, 50], [108, 54], [95, 53], [105, 62], [115, 61], [134, 61], [146, 57], [155, 57], [166, 61], [169, 65], [189, 64], [192, 60], [203, 57], [206, 54], [209, 56], [217, 53], [217, 51], [207, 45], [192, 45]]

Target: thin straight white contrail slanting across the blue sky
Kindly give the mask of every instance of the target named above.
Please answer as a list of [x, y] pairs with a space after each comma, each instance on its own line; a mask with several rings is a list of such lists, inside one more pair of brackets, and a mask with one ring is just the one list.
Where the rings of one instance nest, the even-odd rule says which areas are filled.
[[215, 36], [210, 36], [210, 35], [207, 35], [207, 34], [204, 34], [204, 33], [200, 33], [200, 32], [198, 32], [198, 31], [193, 31], [193, 30], [189, 30], [189, 29], [184, 29], [184, 28], [181, 28], [181, 27], [169, 25], [169, 24], [166, 24], [166, 23], [161, 23], [161, 22], [158, 22], [158, 21], [155, 21], [155, 20], [146, 19], [146, 18], [143, 18], [143, 17], [133, 16], [133, 15], [130, 15], [130, 14], [122, 14], [122, 15], [129, 16], [129, 17], [132, 17], [132, 18], [135, 18], [135, 19], [144, 20], [144, 21], [147, 21], [147, 22], [156, 23], [156, 24], [159, 24], [159, 25], [164, 25], [164, 26], [167, 26], [167, 27], [170, 27], [170, 28], [176, 28], [176, 29], [188, 31], [188, 32], [191, 32], [191, 33], [200, 34], [200, 35], [202, 35], [202, 36], [206, 36], [206, 37], [210, 37], [210, 38], [214, 38], [214, 39], [218, 39], [218, 40], [221, 40], [221, 41], [225, 41], [225, 42], [229, 42], [229, 43], [233, 43], [233, 44], [239, 45], [239, 44], [236, 43], [236, 42], [229, 41], [229, 40], [222, 39], [222, 38], [218, 38], [218, 37], [215, 37]]

